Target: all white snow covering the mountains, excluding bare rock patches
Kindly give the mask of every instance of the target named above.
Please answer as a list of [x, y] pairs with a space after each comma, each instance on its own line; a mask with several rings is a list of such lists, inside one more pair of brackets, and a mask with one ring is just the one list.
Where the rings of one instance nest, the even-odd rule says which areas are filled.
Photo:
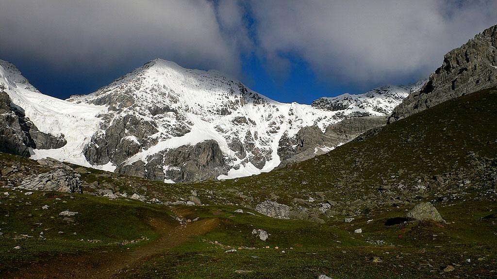
[[[402, 98], [409, 94], [407, 87], [377, 88], [366, 94], [344, 94], [322, 101], [349, 102], [345, 110], [330, 111], [311, 105], [280, 103], [264, 97], [228, 78], [218, 71], [183, 69], [173, 62], [154, 60], [145, 66], [115, 80], [98, 91], [74, 96], [67, 101], [41, 94], [11, 64], [0, 61], [0, 82], [5, 84], [12, 102], [22, 108], [29, 119], [45, 133], [64, 135], [68, 143], [58, 149], [33, 149], [32, 158], [53, 157], [58, 160], [114, 171], [116, 165], [90, 165], [83, 150], [95, 133], [103, 133], [98, 114], [107, 114], [111, 121], [133, 115], [144, 123], [152, 123], [157, 133], [149, 137], [150, 145], [126, 130], [123, 139], [142, 146], [125, 164], [148, 158], [171, 148], [195, 145], [204, 140], [218, 142], [225, 159], [233, 168], [219, 179], [230, 179], [268, 172], [280, 164], [277, 154], [280, 139], [293, 137], [307, 126], [318, 126], [323, 132], [330, 125], [354, 112], [384, 115], [391, 112]], [[133, 90], [129, 90], [133, 88]], [[243, 88], [243, 89], [241, 89]], [[414, 87], [412, 87], [414, 88]], [[411, 88], [411, 89], [412, 89]], [[385, 90], [384, 90], [385, 89]], [[109, 110], [109, 106], [94, 105], [96, 100], [132, 99], [133, 106], [122, 111]], [[112, 97], [112, 98], [110, 98]], [[122, 98], [117, 98], [122, 97]], [[160, 108], [164, 112], [152, 114]], [[379, 109], [384, 112], [379, 112]], [[177, 136], [177, 127], [189, 132]], [[184, 130], [184, 129], [183, 129]], [[122, 140], [123, 140], [122, 139]], [[230, 148], [241, 142], [247, 157], [238, 158]], [[252, 144], [254, 148], [247, 146]], [[315, 153], [325, 153], [335, 146], [316, 147]], [[259, 169], [250, 161], [263, 156], [265, 164]], [[164, 166], [165, 170], [166, 167]], [[237, 168], [237, 169], [235, 169]], [[167, 183], [173, 183], [166, 178]]]

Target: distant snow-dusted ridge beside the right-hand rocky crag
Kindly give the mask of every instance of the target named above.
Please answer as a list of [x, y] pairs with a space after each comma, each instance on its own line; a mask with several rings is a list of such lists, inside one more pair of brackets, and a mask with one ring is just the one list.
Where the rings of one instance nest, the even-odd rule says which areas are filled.
[[386, 85], [363, 94], [342, 94], [315, 100], [312, 106], [329, 111], [340, 111], [344, 116], [383, 116], [390, 114], [410, 93], [418, 91], [426, 80], [407, 85]]

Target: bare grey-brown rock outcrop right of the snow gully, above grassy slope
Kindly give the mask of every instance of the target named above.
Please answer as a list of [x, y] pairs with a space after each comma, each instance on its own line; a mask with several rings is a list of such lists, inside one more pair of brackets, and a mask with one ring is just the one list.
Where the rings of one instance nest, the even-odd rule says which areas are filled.
[[334, 146], [346, 143], [358, 135], [387, 123], [386, 116], [347, 118], [326, 128], [323, 133], [316, 126], [300, 129], [295, 137], [284, 135], [279, 142], [278, 155], [283, 167], [324, 154]]

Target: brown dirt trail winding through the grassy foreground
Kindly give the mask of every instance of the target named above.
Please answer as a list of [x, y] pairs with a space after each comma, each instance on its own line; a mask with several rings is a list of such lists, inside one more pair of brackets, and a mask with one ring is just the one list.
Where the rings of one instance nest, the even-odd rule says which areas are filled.
[[154, 256], [178, 246], [191, 236], [205, 234], [219, 223], [218, 218], [205, 218], [186, 226], [172, 226], [158, 219], [151, 224], [163, 235], [144, 246], [125, 251], [97, 251], [79, 256], [60, 256], [44, 263], [26, 266], [12, 279], [110, 279], [122, 269], [137, 264], [140, 260]]

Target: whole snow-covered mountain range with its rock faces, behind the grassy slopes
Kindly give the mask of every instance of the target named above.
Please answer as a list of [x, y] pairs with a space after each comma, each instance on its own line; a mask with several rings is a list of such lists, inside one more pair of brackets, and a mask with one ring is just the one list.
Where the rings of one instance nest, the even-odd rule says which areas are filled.
[[[0, 75], [12, 103], [41, 132], [67, 141], [60, 148], [34, 148], [33, 158], [166, 182], [248, 176], [299, 153], [303, 160], [327, 152], [349, 139], [333, 134], [331, 140], [327, 128], [351, 116], [387, 115], [412, 88], [322, 98], [312, 106], [287, 104], [220, 72], [156, 59], [94, 93], [60, 100], [41, 94], [9, 63], [1, 62]], [[354, 102], [330, 109], [318, 105], [324, 100]], [[354, 124], [352, 134], [383, 122], [372, 123]]]

